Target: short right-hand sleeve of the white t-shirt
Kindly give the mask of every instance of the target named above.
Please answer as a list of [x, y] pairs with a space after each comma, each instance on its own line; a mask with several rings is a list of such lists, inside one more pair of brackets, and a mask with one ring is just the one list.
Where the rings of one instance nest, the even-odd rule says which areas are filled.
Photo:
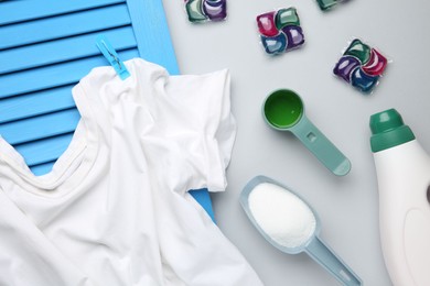
[[162, 150], [155, 152], [162, 166], [159, 175], [169, 176], [170, 189], [225, 189], [225, 172], [236, 136], [229, 88], [226, 69], [198, 76], [166, 76], [155, 82], [151, 136], [160, 139]]

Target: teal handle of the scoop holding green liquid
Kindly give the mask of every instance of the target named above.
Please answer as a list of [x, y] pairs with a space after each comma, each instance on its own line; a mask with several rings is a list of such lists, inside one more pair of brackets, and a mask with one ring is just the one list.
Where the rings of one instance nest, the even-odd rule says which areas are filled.
[[333, 174], [344, 176], [350, 172], [350, 160], [304, 114], [289, 130]]

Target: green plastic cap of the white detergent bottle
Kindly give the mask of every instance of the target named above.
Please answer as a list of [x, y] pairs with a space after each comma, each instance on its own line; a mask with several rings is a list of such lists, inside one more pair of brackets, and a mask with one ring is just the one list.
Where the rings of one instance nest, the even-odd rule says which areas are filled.
[[388, 109], [370, 117], [372, 152], [379, 152], [415, 140], [415, 135], [396, 109]]

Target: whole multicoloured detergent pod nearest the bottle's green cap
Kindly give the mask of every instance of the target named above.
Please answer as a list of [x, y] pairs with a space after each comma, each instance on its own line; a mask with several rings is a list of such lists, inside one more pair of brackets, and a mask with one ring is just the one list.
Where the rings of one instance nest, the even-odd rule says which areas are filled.
[[364, 94], [373, 92], [384, 75], [388, 59], [376, 48], [355, 38], [333, 68], [333, 74]]

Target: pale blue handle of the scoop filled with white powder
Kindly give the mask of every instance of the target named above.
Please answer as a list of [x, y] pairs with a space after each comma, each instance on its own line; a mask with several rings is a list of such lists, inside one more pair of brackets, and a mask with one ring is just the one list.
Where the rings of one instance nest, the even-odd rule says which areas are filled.
[[362, 285], [362, 280], [358, 278], [358, 276], [318, 237], [312, 239], [304, 251], [343, 285]]

